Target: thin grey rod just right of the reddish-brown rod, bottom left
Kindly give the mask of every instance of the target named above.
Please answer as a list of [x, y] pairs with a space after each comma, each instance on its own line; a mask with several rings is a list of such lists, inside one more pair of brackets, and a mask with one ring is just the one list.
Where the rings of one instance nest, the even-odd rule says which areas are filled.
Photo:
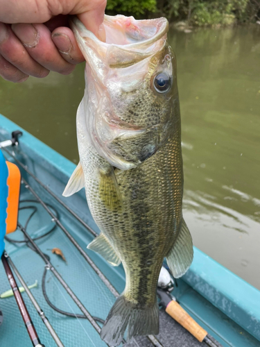
[[53, 326], [49, 322], [48, 318], [45, 316], [45, 314], [42, 311], [40, 305], [35, 300], [35, 297], [31, 293], [31, 290], [26, 285], [26, 282], [24, 281], [24, 278], [21, 277], [21, 274], [17, 270], [17, 267], [15, 266], [15, 264], [12, 262], [12, 260], [11, 260], [10, 256], [8, 255], [8, 253], [5, 253], [5, 257], [8, 260], [10, 266], [12, 267], [12, 270], [14, 271], [15, 275], [17, 276], [19, 282], [24, 287], [24, 290], [26, 291], [26, 294], [28, 295], [28, 297], [30, 298], [31, 302], [33, 303], [33, 306], [35, 307], [35, 310], [38, 312], [38, 314], [41, 317], [43, 323], [46, 325], [46, 328], [49, 330], [49, 333], [53, 337], [53, 340], [55, 341], [56, 345], [58, 347], [64, 347], [64, 345], [62, 344], [62, 341], [60, 341], [60, 338], [58, 337], [57, 333], [53, 329]]

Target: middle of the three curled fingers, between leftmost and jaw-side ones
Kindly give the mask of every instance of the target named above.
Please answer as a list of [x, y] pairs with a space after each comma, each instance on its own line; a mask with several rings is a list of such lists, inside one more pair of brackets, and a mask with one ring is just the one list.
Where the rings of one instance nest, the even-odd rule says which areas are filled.
[[31, 58], [40, 65], [65, 75], [73, 71], [75, 66], [62, 58], [51, 40], [51, 32], [44, 24], [12, 24], [12, 30], [24, 44]]

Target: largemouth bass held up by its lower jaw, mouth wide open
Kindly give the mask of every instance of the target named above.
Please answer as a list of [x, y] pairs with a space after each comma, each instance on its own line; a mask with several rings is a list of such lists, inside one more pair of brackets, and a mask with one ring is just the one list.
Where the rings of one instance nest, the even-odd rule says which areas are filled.
[[164, 257], [173, 276], [193, 258], [182, 218], [182, 151], [176, 59], [165, 18], [105, 16], [106, 42], [76, 18], [86, 87], [77, 112], [80, 163], [64, 191], [85, 187], [101, 230], [88, 248], [125, 269], [101, 338], [118, 346], [159, 332], [157, 280]]

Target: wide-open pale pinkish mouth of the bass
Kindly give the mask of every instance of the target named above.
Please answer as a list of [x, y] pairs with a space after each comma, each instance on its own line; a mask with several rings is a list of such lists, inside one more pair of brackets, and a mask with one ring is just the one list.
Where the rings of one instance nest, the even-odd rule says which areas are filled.
[[71, 27], [87, 62], [92, 49], [109, 67], [125, 67], [161, 51], [168, 32], [166, 18], [136, 20], [123, 15], [104, 19], [106, 41], [102, 42], [83, 25], [78, 17], [71, 18]]

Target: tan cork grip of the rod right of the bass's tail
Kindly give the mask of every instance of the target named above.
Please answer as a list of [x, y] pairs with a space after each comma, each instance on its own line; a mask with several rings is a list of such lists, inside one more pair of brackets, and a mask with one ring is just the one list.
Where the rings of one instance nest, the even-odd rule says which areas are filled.
[[175, 321], [180, 323], [186, 330], [188, 330], [196, 339], [202, 342], [207, 336], [207, 331], [204, 330], [193, 318], [182, 308], [177, 301], [171, 301], [166, 307], [166, 312]]

